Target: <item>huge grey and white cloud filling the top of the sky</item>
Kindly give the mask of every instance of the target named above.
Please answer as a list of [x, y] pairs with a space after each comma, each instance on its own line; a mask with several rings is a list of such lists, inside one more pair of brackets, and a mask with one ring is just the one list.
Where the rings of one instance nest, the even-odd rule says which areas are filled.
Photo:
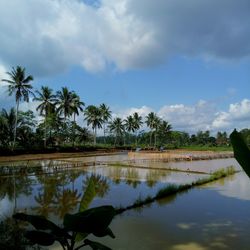
[[249, 0], [0, 1], [0, 61], [37, 76], [145, 68], [174, 54], [249, 58]]

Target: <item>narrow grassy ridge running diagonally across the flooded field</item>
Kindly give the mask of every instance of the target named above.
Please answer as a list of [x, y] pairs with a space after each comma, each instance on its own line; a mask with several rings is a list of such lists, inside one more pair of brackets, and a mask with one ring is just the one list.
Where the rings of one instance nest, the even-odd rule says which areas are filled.
[[116, 214], [121, 214], [127, 210], [139, 208], [142, 206], [145, 206], [147, 204], [150, 204], [156, 200], [166, 198], [171, 195], [176, 195], [180, 192], [185, 192], [190, 190], [191, 188], [201, 186], [216, 180], [219, 180], [221, 178], [225, 178], [227, 176], [233, 175], [237, 173], [237, 171], [234, 169], [234, 167], [228, 167], [226, 169], [219, 169], [215, 172], [213, 172], [209, 177], [201, 178], [197, 181], [193, 181], [190, 184], [181, 184], [181, 185], [175, 185], [170, 184], [164, 188], [161, 188], [155, 196], [148, 195], [146, 198], [142, 199], [139, 197], [133, 204], [127, 206], [127, 207], [120, 207], [116, 209]]

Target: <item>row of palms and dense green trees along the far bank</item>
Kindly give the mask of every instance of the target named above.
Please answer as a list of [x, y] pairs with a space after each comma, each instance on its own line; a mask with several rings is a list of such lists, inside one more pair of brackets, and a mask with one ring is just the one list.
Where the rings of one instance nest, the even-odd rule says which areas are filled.
[[[0, 112], [0, 147], [2, 149], [17, 148], [53, 148], [79, 147], [81, 145], [100, 144], [113, 146], [144, 145], [157, 148], [163, 145], [181, 147], [185, 145], [228, 145], [226, 132], [218, 132], [212, 137], [209, 131], [199, 131], [196, 135], [172, 130], [172, 125], [156, 113], [150, 112], [143, 121], [137, 112], [127, 116], [112, 118], [112, 111], [105, 104], [88, 105], [79, 95], [67, 87], [53, 91], [48, 86], [34, 90], [31, 82], [32, 75], [26, 75], [25, 68], [13, 67], [7, 72], [8, 78], [2, 79], [7, 83], [9, 95], [15, 96], [15, 108], [2, 109]], [[20, 111], [22, 101], [30, 99], [38, 102], [36, 110], [41, 119], [37, 120], [31, 110]], [[83, 116], [87, 127], [77, 123], [77, 117]], [[147, 127], [148, 129], [141, 130]], [[89, 130], [89, 128], [91, 130]], [[97, 136], [98, 129], [103, 135]]]

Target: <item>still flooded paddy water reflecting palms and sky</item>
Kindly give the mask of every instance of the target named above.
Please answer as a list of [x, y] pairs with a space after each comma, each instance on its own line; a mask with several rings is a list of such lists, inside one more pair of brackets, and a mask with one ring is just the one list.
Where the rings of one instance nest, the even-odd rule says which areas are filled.
[[[126, 155], [122, 155], [126, 161]], [[74, 159], [79, 162], [82, 159]], [[93, 159], [84, 159], [85, 162]], [[96, 159], [94, 159], [96, 160]], [[96, 161], [119, 161], [119, 156]], [[60, 161], [60, 163], [65, 163]], [[47, 165], [58, 162], [30, 162], [34, 169], [22, 174], [3, 173], [0, 177], [0, 218], [13, 212], [43, 214], [61, 223], [64, 213], [77, 212], [86, 187], [95, 183], [89, 207], [112, 204], [127, 206], [139, 197], [154, 195], [170, 183], [189, 183], [206, 176], [175, 172], [162, 168], [202, 170], [234, 165], [234, 159], [178, 163], [145, 163], [148, 168], [124, 166], [90, 166], [59, 173]], [[72, 159], [67, 160], [72, 164]], [[150, 165], [151, 164], [151, 165]], [[15, 164], [15, 168], [25, 164]], [[59, 164], [60, 165], [60, 164]], [[160, 168], [160, 170], [158, 169]], [[58, 169], [57, 169], [58, 170]], [[2, 175], [3, 175], [2, 174]], [[90, 181], [91, 180], [91, 181]], [[115, 217], [111, 228], [116, 239], [96, 239], [112, 249], [250, 249], [250, 181], [244, 172], [171, 198], [162, 199], [139, 210]], [[93, 238], [94, 239], [94, 238]], [[55, 245], [51, 249], [57, 249]], [[87, 248], [86, 248], [87, 249]]]

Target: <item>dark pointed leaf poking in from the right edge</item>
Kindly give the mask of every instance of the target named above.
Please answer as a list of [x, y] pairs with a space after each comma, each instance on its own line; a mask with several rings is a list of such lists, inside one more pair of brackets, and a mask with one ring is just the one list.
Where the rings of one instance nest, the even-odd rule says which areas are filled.
[[250, 150], [246, 142], [236, 130], [231, 133], [230, 140], [233, 145], [235, 159], [239, 162], [248, 177], [250, 177]]

